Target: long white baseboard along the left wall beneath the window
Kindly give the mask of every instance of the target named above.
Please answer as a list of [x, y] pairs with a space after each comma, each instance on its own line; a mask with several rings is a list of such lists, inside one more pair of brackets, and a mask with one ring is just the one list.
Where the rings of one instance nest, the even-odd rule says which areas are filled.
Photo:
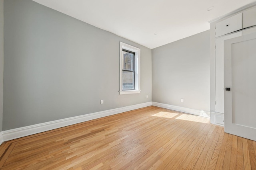
[[80, 116], [75, 116], [75, 117], [70, 117], [66, 119], [60, 119], [56, 121], [49, 121], [45, 123], [39, 123], [36, 125], [30, 125], [26, 127], [20, 127], [16, 129], [10, 129], [7, 131], [2, 131], [0, 132], [0, 142], [1, 141], [10, 141], [12, 139], [17, 139], [20, 137], [28, 136], [28, 135], [33, 135], [36, 133], [40, 132], [45, 132], [49, 131], [52, 129], [57, 129], [60, 127], [65, 127], [68, 125], [74, 125], [76, 123], [81, 123], [84, 121], [89, 121], [92, 119], [98, 119], [100, 117], [106, 117], [109, 115], [114, 115], [134, 109], [140, 109], [142, 107], [147, 107], [147, 106], [152, 106], [152, 102], [147, 102], [147, 103], [142, 103], [142, 104], [136, 104], [132, 106], [126, 106], [126, 107], [120, 107], [116, 109], [110, 109], [106, 111], [99, 111], [96, 113], [90, 113], [86, 115], [80, 115]]

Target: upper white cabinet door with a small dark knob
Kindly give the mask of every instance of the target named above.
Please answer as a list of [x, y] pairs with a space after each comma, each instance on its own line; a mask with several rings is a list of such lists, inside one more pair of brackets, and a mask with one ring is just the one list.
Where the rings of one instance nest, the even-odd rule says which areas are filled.
[[242, 29], [242, 13], [236, 14], [226, 20], [216, 23], [215, 37], [232, 33], [234, 31]]

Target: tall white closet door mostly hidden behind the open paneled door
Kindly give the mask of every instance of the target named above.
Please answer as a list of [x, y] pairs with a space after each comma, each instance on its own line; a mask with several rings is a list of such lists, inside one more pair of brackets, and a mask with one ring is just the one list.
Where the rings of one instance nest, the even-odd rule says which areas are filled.
[[215, 40], [215, 111], [224, 113], [224, 40], [242, 36], [242, 31]]

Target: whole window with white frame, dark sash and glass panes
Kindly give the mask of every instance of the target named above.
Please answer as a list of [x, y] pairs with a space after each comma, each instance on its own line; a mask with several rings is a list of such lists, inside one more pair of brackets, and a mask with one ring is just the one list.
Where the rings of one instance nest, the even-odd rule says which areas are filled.
[[140, 49], [120, 42], [119, 94], [140, 93]]

